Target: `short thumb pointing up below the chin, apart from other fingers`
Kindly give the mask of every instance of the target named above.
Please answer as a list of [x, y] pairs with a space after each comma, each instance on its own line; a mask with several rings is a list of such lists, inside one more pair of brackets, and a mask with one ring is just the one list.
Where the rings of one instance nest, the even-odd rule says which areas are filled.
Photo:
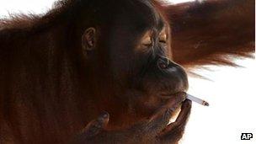
[[83, 130], [84, 136], [95, 136], [104, 129], [109, 122], [109, 113], [103, 112], [97, 120], [93, 120]]

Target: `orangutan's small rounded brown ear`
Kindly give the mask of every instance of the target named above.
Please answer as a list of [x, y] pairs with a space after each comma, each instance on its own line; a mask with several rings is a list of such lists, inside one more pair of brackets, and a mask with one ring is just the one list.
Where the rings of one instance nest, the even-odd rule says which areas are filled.
[[88, 53], [88, 51], [93, 51], [96, 45], [96, 29], [88, 28], [84, 31], [82, 35], [82, 47], [83, 53]]

